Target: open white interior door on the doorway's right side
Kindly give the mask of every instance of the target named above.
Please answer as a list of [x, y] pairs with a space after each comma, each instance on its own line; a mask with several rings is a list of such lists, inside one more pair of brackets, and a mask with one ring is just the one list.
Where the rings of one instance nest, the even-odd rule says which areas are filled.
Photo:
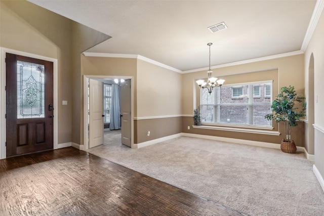
[[131, 147], [131, 80], [121, 84], [121, 143]]

